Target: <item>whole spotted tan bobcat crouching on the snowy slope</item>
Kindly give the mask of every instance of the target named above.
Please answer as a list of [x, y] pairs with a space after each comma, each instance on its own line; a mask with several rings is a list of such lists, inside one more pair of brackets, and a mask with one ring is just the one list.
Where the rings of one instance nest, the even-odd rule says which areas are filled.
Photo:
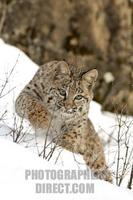
[[96, 69], [77, 73], [65, 61], [51, 61], [40, 67], [15, 102], [16, 112], [35, 129], [63, 148], [82, 154], [95, 176], [112, 182], [103, 146], [88, 109], [98, 76]]

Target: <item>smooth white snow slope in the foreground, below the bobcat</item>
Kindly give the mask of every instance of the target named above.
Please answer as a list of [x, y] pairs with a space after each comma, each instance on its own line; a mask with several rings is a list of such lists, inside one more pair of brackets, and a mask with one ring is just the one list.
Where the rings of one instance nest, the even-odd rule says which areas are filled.
[[[34, 180], [25, 180], [26, 169], [58, 169], [54, 165], [50, 165], [45, 160], [38, 158], [35, 154], [27, 152], [27, 150], [15, 143], [0, 139], [0, 198], [8, 199], [117, 199], [123, 198], [130, 200], [133, 193], [124, 188], [118, 188], [110, 183], [104, 181], [94, 181], [94, 194], [36, 194]], [[64, 168], [65, 169], [65, 168]], [[41, 181], [40, 181], [41, 182]], [[45, 183], [48, 183], [45, 180]], [[77, 183], [82, 181], [77, 180]], [[84, 183], [87, 182], [84, 180]], [[65, 183], [65, 181], [63, 181]]]

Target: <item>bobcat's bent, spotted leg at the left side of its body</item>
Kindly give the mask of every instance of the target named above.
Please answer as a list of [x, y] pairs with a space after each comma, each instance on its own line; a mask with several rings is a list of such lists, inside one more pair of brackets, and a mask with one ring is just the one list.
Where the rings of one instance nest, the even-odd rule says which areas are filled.
[[15, 109], [17, 114], [29, 120], [34, 128], [47, 128], [50, 114], [42, 102], [31, 95], [22, 92], [16, 100]]

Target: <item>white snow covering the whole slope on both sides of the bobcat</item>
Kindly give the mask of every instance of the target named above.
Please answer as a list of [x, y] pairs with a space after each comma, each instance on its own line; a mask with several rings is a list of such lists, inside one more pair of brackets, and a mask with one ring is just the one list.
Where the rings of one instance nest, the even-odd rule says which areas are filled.
[[[39, 158], [38, 154], [41, 154], [44, 146], [42, 136], [34, 134], [26, 121], [23, 121], [22, 126], [22, 121], [15, 114], [14, 101], [22, 88], [32, 79], [37, 69], [38, 66], [23, 52], [0, 40], [1, 199], [11, 199], [11, 197], [14, 199], [41, 199], [46, 196], [46, 194], [35, 193], [35, 181], [24, 179], [26, 169], [86, 169], [81, 156], [73, 155], [59, 148], [54, 151], [49, 162], [42, 159], [42, 157]], [[96, 102], [91, 103], [89, 117], [103, 139], [106, 159], [114, 176], [114, 185], [116, 184], [115, 177], [124, 172], [123, 188], [95, 180], [94, 194], [67, 194], [66, 197], [63, 194], [54, 193], [47, 195], [47, 199], [60, 199], [62, 197], [65, 199], [68, 196], [70, 199], [77, 198], [77, 196], [79, 199], [87, 199], [88, 195], [91, 199], [133, 198], [133, 193], [125, 189], [133, 162], [133, 118], [117, 116], [107, 112], [102, 113], [101, 106]], [[20, 136], [17, 138], [18, 133], [20, 133]], [[26, 149], [12, 143], [13, 140], [16, 140]], [[46, 152], [48, 158], [50, 158], [49, 149], [51, 149], [51, 145], [49, 145], [48, 152]], [[123, 169], [124, 163], [126, 165]], [[119, 180], [118, 178], [117, 182]], [[86, 182], [86, 180], [76, 180], [78, 183], [82, 183], [82, 181]], [[41, 181], [38, 180], [38, 182]], [[45, 180], [45, 182], [48, 182], [48, 180]]]

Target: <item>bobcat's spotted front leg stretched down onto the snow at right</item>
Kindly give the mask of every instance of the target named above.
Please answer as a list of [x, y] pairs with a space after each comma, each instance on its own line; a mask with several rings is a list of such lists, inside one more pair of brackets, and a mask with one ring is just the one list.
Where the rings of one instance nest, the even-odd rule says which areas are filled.
[[88, 121], [88, 123], [89, 130], [85, 137], [85, 150], [83, 158], [96, 177], [112, 182], [111, 172], [106, 165], [103, 145], [91, 122]]

